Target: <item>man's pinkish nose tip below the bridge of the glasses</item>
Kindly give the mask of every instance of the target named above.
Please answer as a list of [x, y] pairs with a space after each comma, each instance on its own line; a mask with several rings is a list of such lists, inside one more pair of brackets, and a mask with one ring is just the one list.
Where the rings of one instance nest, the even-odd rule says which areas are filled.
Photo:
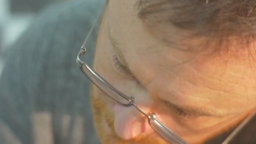
[[[149, 112], [147, 107], [139, 107], [143, 112]], [[152, 132], [147, 117], [142, 115], [135, 107], [115, 105], [115, 132], [124, 140], [132, 139], [141, 133]]]

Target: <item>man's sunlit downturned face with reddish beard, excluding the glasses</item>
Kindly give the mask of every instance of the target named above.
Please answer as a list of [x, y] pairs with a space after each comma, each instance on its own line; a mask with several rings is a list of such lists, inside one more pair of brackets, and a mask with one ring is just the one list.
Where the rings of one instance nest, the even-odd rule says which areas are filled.
[[[204, 45], [174, 26], [162, 27], [176, 44], [160, 40], [138, 17], [137, 0], [109, 0], [96, 43], [93, 69], [131, 95], [144, 112], [189, 143], [203, 142], [234, 127], [256, 102], [255, 64], [245, 48]], [[102, 143], [165, 143], [134, 107], [123, 107], [95, 85], [91, 101]]]

